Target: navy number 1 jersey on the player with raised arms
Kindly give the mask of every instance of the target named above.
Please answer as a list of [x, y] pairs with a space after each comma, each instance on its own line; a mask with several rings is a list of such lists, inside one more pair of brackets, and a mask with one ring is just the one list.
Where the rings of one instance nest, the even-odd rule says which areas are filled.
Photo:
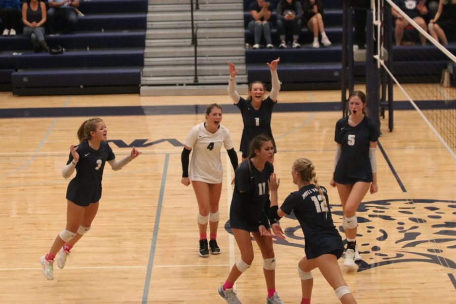
[[261, 101], [261, 106], [256, 110], [252, 106], [251, 101], [247, 101], [242, 97], [239, 98], [236, 106], [241, 110], [242, 122], [244, 123], [240, 147], [243, 157], [249, 154], [250, 141], [259, 134], [266, 134], [271, 137], [274, 149], [276, 149], [276, 143], [271, 130], [272, 109], [276, 103], [277, 101], [274, 102], [268, 96], [268, 98]]

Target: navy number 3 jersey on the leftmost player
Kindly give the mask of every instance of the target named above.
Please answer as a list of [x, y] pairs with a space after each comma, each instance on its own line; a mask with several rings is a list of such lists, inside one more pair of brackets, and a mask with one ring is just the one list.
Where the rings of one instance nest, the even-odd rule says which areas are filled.
[[[76, 151], [79, 154], [76, 176], [68, 184], [66, 199], [80, 206], [88, 206], [100, 200], [104, 165], [116, 157], [107, 141], [101, 141], [98, 150], [94, 150], [85, 140], [78, 145]], [[70, 153], [66, 164], [72, 160]]]

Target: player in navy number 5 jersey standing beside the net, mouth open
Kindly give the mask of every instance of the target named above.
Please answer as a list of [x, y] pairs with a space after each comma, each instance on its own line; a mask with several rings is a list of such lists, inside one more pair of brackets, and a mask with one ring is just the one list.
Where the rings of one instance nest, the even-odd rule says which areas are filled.
[[347, 236], [344, 265], [356, 267], [355, 260], [361, 260], [356, 246], [356, 209], [369, 188], [371, 194], [378, 191], [375, 153], [380, 130], [365, 115], [366, 95], [363, 92], [354, 91], [348, 104], [350, 115], [341, 118], [335, 126], [334, 140], [337, 146], [330, 185], [337, 186], [344, 212], [343, 226]]

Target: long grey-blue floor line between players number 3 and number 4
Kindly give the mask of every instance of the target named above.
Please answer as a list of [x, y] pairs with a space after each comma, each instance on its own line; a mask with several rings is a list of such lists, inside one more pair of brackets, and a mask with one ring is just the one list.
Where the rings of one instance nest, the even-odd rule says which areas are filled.
[[157, 245], [157, 236], [160, 224], [160, 214], [162, 213], [163, 195], [165, 192], [166, 175], [168, 173], [168, 162], [169, 153], [166, 154], [165, 164], [163, 165], [162, 184], [160, 185], [159, 201], [157, 205], [157, 212], [155, 214], [154, 234], [152, 236], [152, 242], [150, 243], [149, 261], [147, 263], [147, 273], [144, 282], [144, 291], [142, 293], [142, 304], [147, 303], [147, 297], [149, 295], [150, 277], [152, 276], [152, 267], [154, 265], [155, 248]]

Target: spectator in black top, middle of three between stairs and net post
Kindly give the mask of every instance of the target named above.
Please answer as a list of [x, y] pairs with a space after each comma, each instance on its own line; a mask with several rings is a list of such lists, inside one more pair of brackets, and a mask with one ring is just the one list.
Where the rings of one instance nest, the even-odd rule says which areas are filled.
[[302, 27], [302, 6], [298, 0], [281, 0], [277, 5], [277, 31], [280, 36], [279, 48], [285, 49], [285, 32], [293, 33], [293, 48], [300, 48], [298, 43]]

